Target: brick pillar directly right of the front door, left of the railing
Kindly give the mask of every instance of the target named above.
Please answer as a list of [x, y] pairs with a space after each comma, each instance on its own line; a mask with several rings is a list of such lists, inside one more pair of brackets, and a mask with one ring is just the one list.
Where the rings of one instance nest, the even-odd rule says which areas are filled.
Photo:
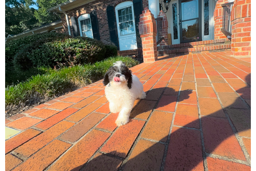
[[222, 28], [222, 6], [221, 4], [228, 3], [228, 0], [218, 0], [214, 9], [214, 39], [225, 39], [226, 35], [220, 30]]

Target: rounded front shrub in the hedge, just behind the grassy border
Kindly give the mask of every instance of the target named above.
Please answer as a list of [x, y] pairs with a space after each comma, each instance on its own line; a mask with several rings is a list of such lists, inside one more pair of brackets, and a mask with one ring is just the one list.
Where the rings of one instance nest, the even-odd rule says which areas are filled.
[[56, 41], [39, 40], [28, 44], [14, 56], [15, 68], [63, 67], [101, 61], [105, 56], [105, 45], [87, 37], [65, 38]]

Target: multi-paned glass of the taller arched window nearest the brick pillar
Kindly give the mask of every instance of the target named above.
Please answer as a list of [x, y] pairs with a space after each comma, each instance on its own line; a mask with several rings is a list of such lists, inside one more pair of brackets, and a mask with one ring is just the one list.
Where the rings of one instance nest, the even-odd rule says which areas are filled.
[[121, 36], [134, 33], [131, 6], [118, 10], [118, 20]]

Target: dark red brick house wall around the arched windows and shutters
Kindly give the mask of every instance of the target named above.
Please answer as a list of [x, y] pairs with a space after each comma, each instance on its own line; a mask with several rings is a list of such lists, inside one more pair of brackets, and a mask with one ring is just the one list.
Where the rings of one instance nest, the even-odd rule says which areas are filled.
[[[98, 17], [98, 26], [99, 26], [99, 33], [100, 33], [100, 40], [104, 44], [110, 44], [110, 36], [108, 30], [108, 23], [107, 23], [107, 12], [106, 8], [108, 5], [116, 6], [118, 3], [123, 2], [125, 0], [96, 0], [85, 5], [78, 6], [72, 10], [66, 11], [69, 16], [69, 23], [71, 24], [71, 17], [79, 17], [82, 14], [90, 13], [92, 10], [96, 9], [97, 17]], [[148, 0], [143, 0], [143, 9], [148, 7]], [[61, 15], [64, 32], [68, 34], [67, 23], [65, 15]], [[78, 28], [79, 29], [79, 28]], [[71, 34], [73, 35], [73, 30], [71, 26]], [[79, 31], [80, 34], [80, 31]]]

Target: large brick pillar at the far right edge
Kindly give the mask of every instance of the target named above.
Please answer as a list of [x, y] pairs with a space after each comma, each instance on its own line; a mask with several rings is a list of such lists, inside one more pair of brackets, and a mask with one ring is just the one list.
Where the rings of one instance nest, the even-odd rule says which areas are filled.
[[[235, 0], [231, 11], [231, 55], [251, 55], [251, 15], [250, 0]], [[252, 2], [252, 1], [251, 1]]]

